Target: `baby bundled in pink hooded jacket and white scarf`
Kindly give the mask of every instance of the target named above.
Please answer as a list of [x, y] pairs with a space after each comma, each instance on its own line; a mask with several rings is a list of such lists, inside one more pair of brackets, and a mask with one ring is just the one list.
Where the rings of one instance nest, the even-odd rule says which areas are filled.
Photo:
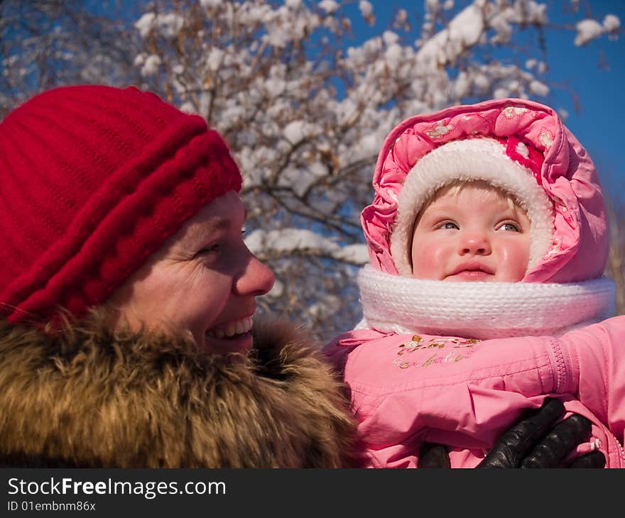
[[558, 397], [592, 421], [577, 454], [624, 467], [625, 317], [608, 319], [604, 202], [555, 112], [502, 99], [403, 121], [374, 188], [363, 319], [325, 348], [369, 465], [415, 467], [427, 441], [474, 467], [524, 409]]

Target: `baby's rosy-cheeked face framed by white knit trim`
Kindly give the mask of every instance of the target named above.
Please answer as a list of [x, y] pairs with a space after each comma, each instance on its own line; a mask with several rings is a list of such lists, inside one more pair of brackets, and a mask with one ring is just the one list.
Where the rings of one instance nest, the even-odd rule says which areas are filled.
[[525, 275], [531, 222], [499, 192], [466, 185], [442, 194], [415, 226], [413, 277], [516, 282]]

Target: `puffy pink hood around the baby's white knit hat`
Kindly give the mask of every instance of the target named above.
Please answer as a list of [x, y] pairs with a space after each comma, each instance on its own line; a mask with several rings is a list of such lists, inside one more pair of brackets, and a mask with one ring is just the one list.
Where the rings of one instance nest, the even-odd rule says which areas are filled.
[[390, 237], [403, 181], [426, 153], [469, 136], [516, 136], [544, 153], [540, 183], [554, 204], [553, 248], [526, 282], [576, 282], [601, 277], [609, 253], [604, 199], [588, 153], [548, 106], [499, 99], [452, 106], [406, 119], [388, 134], [376, 163], [374, 202], [362, 211], [374, 268], [398, 275]]

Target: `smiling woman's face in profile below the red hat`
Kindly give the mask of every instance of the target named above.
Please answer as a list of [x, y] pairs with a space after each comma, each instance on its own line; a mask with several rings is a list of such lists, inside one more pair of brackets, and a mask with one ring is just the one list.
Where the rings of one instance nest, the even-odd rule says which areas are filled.
[[190, 331], [202, 351], [245, 353], [256, 297], [273, 273], [245, 246], [245, 210], [227, 192], [188, 220], [109, 299], [131, 329]]

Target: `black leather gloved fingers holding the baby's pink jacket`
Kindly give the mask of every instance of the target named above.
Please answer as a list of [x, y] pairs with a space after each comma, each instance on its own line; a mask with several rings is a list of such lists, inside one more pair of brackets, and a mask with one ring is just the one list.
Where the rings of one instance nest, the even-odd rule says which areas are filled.
[[[565, 458], [590, 436], [590, 421], [578, 414], [555, 424], [565, 414], [560, 399], [547, 398], [538, 410], [527, 412], [506, 431], [477, 468], [564, 468]], [[554, 426], [555, 425], [555, 426]], [[592, 451], [575, 458], [569, 468], [603, 468], [603, 453]], [[449, 468], [447, 448], [424, 443], [418, 468]]]

